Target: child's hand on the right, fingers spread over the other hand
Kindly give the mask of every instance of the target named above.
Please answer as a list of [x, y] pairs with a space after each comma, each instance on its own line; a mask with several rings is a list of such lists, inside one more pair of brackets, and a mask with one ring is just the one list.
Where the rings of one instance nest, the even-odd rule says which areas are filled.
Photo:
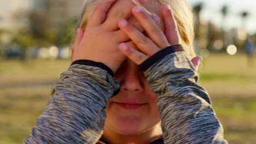
[[137, 47], [142, 51], [139, 52], [129, 45], [121, 43], [119, 45], [120, 51], [129, 57], [131, 61], [139, 65], [160, 50], [165, 49], [171, 45], [180, 44], [176, 21], [173, 17], [169, 5], [165, 4], [162, 9], [165, 33], [162, 32], [152, 17], [150, 17], [149, 14], [147, 14], [138, 6], [133, 7], [132, 13], [147, 32], [148, 37], [133, 27], [125, 19], [121, 19], [119, 21], [120, 29], [122, 29], [128, 35], [128, 37], [130, 37], [133, 43], [135, 43]]

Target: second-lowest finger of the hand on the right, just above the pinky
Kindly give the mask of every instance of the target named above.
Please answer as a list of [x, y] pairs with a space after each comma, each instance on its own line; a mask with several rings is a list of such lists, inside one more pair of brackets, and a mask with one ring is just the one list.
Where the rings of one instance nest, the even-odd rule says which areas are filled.
[[156, 52], [161, 50], [152, 40], [146, 37], [142, 32], [138, 31], [137, 28], [133, 27], [125, 19], [121, 19], [118, 23], [121, 30], [123, 30], [133, 43], [148, 56], [153, 56]]

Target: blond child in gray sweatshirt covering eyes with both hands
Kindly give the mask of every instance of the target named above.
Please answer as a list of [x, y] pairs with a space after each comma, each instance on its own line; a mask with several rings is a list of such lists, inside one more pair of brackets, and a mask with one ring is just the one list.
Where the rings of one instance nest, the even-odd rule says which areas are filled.
[[73, 63], [24, 143], [227, 143], [196, 84], [191, 15], [182, 0], [85, 1]]

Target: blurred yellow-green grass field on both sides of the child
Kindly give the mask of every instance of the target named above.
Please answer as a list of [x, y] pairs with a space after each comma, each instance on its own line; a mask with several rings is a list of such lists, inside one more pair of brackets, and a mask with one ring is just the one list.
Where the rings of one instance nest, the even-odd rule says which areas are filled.
[[[51, 85], [70, 63], [0, 61], [0, 144], [26, 139], [50, 99]], [[245, 55], [211, 53], [202, 63], [199, 83], [210, 94], [230, 143], [256, 141], [255, 70], [256, 64], [248, 67]]]

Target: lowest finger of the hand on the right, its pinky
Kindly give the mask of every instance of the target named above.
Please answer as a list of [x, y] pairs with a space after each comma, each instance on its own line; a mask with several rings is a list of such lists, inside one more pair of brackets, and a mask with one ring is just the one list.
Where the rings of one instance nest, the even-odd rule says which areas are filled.
[[119, 49], [121, 52], [124, 53], [124, 55], [126, 55], [128, 58], [130, 58], [131, 61], [135, 62], [138, 65], [143, 63], [144, 61], [146, 61], [149, 58], [144, 53], [133, 49], [132, 47], [130, 47], [129, 45], [127, 45], [125, 43], [121, 43], [119, 45]]

